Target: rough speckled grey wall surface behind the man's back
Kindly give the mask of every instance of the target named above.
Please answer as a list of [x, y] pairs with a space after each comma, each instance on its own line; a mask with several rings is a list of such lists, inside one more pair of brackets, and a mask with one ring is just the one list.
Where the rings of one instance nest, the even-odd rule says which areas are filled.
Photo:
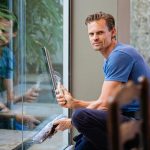
[[150, 64], [150, 2], [147, 0], [131, 0], [131, 44], [139, 49]]

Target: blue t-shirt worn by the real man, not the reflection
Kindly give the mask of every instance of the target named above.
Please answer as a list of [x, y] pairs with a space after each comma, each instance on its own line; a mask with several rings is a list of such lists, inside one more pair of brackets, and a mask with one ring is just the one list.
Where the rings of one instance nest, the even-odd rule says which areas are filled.
[[[105, 60], [103, 70], [105, 81], [125, 83], [132, 80], [137, 83], [140, 76], [150, 78], [150, 68], [143, 57], [135, 48], [122, 43], [118, 43]], [[139, 103], [136, 100], [122, 107], [122, 111], [125, 112], [138, 110]]]

